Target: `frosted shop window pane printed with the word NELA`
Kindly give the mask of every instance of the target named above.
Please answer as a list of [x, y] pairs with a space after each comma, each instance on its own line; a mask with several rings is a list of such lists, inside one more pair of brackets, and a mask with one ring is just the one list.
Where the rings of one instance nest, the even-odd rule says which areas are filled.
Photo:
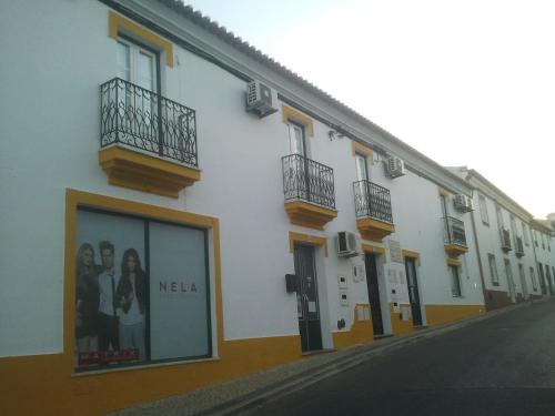
[[149, 224], [151, 358], [210, 355], [204, 232]]

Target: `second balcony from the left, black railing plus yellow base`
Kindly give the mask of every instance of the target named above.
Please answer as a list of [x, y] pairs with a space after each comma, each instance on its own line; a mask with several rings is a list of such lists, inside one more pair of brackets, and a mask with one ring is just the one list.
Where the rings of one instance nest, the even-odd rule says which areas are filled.
[[285, 212], [292, 224], [324, 230], [337, 216], [333, 169], [301, 154], [282, 158]]

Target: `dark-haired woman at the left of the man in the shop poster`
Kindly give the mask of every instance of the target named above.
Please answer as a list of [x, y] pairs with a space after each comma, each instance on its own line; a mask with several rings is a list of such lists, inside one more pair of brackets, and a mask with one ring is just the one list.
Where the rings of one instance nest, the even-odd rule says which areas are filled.
[[94, 250], [83, 243], [77, 253], [77, 319], [75, 338], [79, 353], [98, 349], [98, 313], [100, 292], [94, 264]]

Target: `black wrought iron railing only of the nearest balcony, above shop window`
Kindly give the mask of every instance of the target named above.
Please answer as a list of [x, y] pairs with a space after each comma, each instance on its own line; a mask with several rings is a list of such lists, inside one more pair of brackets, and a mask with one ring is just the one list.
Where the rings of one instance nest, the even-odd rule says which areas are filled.
[[125, 144], [198, 168], [194, 110], [114, 78], [100, 85], [100, 146]]

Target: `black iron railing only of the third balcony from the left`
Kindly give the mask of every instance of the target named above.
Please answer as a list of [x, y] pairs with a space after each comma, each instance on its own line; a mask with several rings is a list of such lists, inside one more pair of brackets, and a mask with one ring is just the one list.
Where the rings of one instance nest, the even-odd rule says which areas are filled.
[[371, 216], [393, 224], [390, 190], [370, 181], [353, 183], [356, 217]]

